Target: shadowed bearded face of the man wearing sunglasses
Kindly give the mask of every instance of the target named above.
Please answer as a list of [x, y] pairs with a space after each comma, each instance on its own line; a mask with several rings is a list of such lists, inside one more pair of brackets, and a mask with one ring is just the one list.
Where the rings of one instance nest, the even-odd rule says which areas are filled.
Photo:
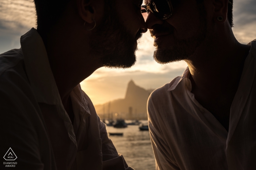
[[[157, 19], [149, 12], [146, 24], [154, 38], [154, 59], [165, 64], [191, 60], [196, 48], [206, 37], [206, 10], [196, 0], [173, 2], [173, 15], [166, 20]], [[148, 0], [145, 1], [145, 4]]]

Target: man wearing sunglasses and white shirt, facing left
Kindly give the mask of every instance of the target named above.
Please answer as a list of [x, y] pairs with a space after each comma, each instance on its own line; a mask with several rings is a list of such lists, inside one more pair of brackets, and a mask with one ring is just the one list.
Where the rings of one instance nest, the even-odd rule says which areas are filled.
[[188, 64], [148, 99], [157, 169], [256, 169], [256, 41], [234, 37], [233, 1], [145, 4], [154, 59]]

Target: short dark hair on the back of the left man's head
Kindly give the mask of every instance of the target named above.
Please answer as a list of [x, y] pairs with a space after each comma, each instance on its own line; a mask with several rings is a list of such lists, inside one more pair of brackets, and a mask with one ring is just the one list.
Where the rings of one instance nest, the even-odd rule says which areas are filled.
[[34, 0], [37, 29], [49, 31], [63, 16], [70, 0]]

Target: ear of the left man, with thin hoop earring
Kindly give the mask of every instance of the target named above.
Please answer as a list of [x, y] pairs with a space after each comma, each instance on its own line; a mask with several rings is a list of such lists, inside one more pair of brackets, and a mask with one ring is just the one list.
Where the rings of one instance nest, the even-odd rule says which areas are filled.
[[92, 0], [76, 0], [78, 13], [86, 23], [93, 23], [95, 19], [95, 8]]

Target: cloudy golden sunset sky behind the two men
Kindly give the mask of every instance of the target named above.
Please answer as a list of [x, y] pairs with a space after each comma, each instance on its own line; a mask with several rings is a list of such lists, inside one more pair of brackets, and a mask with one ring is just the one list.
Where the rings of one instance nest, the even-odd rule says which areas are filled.
[[[256, 0], [234, 0], [233, 32], [240, 43], [256, 39]], [[33, 0], [0, 0], [0, 54], [20, 48], [20, 36], [35, 27]], [[128, 82], [145, 89], [155, 89], [180, 76], [187, 64], [184, 61], [161, 65], [153, 60], [153, 38], [149, 31], [139, 40], [137, 62], [132, 68], [99, 68], [81, 87], [94, 104], [124, 98]]]

